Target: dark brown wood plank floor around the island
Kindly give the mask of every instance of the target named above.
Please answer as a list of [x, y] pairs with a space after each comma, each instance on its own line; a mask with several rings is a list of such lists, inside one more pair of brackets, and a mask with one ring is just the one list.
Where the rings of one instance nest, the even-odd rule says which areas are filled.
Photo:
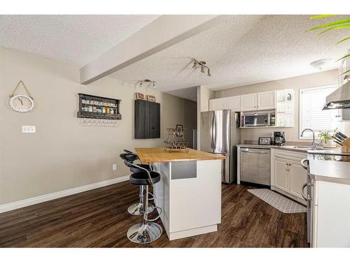
[[[123, 182], [0, 214], [0, 247], [308, 247], [306, 213], [284, 214], [243, 185], [223, 184], [218, 231], [150, 245], [127, 240], [138, 188]], [[186, 215], [186, 214], [183, 214]], [[161, 221], [158, 221], [161, 224]]]

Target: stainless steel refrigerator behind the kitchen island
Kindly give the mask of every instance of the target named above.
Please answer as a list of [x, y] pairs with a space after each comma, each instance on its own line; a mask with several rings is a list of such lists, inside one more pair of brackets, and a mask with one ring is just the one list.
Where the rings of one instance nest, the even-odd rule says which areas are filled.
[[201, 112], [200, 150], [222, 154], [223, 183], [237, 182], [237, 147], [241, 143], [239, 113], [231, 110]]

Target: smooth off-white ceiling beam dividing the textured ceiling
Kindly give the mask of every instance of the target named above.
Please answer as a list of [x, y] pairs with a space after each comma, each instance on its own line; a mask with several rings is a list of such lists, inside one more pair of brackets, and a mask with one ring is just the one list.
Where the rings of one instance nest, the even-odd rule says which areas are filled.
[[80, 68], [80, 83], [87, 85], [104, 78], [230, 17], [231, 15], [162, 15]]

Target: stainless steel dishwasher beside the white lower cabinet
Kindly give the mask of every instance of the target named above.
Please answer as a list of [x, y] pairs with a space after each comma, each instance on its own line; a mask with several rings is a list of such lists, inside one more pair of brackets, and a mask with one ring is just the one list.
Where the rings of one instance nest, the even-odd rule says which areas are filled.
[[240, 180], [269, 186], [270, 150], [242, 147], [240, 154]]

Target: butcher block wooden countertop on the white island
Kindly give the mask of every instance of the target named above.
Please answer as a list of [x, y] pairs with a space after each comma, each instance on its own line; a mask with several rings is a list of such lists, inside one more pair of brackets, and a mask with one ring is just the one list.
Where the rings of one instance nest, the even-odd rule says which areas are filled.
[[164, 147], [136, 147], [135, 150], [142, 163], [225, 159], [222, 155], [191, 149], [188, 153], [185, 150], [169, 152], [165, 151]]

